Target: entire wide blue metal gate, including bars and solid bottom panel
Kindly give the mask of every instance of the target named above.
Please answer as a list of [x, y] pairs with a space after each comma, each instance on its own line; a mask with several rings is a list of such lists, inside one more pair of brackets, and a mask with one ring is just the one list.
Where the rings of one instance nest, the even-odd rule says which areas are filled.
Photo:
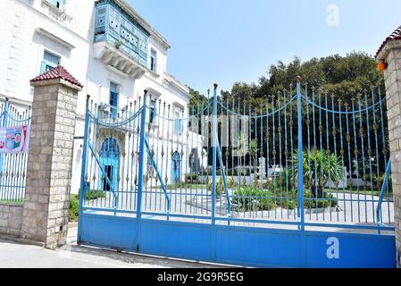
[[[380, 92], [335, 103], [298, 81], [250, 110], [216, 85], [180, 111], [182, 127], [161, 101], [149, 121], [146, 97], [117, 116], [88, 98], [80, 244], [262, 267], [396, 266]], [[104, 139], [121, 148], [116, 184]]]

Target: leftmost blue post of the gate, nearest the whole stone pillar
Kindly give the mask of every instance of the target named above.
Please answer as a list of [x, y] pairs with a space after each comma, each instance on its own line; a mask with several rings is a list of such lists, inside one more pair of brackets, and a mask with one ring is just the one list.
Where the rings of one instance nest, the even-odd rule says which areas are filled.
[[80, 241], [82, 231], [82, 214], [83, 204], [85, 202], [85, 194], [87, 190], [87, 160], [88, 160], [88, 130], [89, 130], [89, 98], [87, 96], [87, 105], [85, 113], [85, 130], [84, 130], [84, 145], [82, 147], [82, 167], [80, 170], [80, 188], [79, 188], [79, 216], [78, 216], [78, 242]]

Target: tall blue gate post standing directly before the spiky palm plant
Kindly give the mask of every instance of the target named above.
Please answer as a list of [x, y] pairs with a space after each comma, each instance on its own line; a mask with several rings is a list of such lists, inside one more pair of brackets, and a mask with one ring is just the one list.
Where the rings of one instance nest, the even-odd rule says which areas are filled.
[[[298, 217], [301, 218], [301, 231], [305, 231], [305, 206], [304, 206], [304, 166], [303, 166], [303, 142], [302, 142], [302, 95], [301, 77], [297, 76], [297, 122], [298, 122]], [[299, 214], [300, 213], [300, 214]]]

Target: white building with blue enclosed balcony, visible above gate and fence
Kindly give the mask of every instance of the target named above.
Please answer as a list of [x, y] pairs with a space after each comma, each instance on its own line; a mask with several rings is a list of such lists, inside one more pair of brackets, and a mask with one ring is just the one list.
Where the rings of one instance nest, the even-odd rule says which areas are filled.
[[[166, 102], [172, 115], [188, 114], [188, 87], [167, 72], [171, 46], [124, 0], [1, 0], [0, 15], [0, 95], [13, 105], [30, 105], [29, 80], [63, 65], [84, 85], [77, 137], [84, 133], [87, 95], [113, 110], [147, 89], [155, 100], [150, 105]], [[180, 129], [187, 133], [187, 126]], [[81, 154], [77, 139], [72, 192], [79, 189]]]

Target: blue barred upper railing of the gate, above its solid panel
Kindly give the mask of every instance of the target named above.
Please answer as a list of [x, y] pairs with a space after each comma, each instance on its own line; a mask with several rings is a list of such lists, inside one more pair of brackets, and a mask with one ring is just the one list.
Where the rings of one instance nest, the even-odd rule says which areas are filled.
[[117, 116], [88, 100], [82, 206], [190, 223], [392, 230], [386, 126], [380, 91], [336, 99], [300, 82], [256, 107], [216, 88], [185, 107], [139, 98]]

